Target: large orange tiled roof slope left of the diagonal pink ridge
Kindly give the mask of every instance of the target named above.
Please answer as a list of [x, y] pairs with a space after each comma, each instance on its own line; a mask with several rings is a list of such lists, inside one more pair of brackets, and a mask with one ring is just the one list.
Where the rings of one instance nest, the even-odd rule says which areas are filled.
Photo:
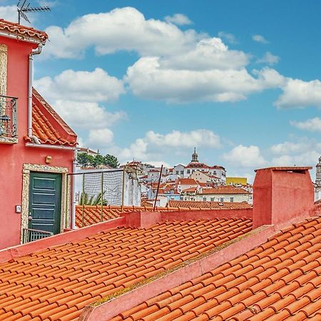
[[118, 227], [14, 258], [0, 264], [0, 320], [78, 320], [86, 305], [161, 277], [251, 226], [250, 219], [226, 218]]

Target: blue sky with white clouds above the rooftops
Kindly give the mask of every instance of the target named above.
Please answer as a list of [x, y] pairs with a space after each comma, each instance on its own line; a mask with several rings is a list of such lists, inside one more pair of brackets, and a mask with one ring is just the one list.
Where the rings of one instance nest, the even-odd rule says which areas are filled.
[[[16, 19], [16, 1], [0, 16]], [[321, 154], [319, 1], [34, 1], [34, 84], [81, 144], [247, 175]]]

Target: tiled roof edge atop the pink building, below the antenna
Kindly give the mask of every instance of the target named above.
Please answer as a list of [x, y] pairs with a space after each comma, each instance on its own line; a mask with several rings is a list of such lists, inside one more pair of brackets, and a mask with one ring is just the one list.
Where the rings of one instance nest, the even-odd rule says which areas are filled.
[[34, 39], [44, 44], [48, 39], [48, 35], [44, 31], [39, 31], [27, 26], [21, 26], [21, 24], [15, 24], [14, 22], [0, 19], [0, 30], [7, 34], [14, 34], [18, 39], [24, 40], [24, 37], [28, 39]]

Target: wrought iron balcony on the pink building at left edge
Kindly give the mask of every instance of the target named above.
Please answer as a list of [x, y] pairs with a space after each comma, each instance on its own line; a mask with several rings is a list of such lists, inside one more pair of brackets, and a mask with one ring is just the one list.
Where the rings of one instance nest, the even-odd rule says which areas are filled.
[[0, 95], [0, 143], [18, 143], [17, 100]]

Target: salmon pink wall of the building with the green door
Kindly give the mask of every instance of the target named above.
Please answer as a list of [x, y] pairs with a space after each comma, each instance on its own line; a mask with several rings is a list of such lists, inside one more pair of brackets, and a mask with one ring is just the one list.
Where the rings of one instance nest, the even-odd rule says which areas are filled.
[[51, 156], [50, 165], [68, 167], [71, 172], [73, 151], [25, 146], [24, 136], [28, 133], [29, 54], [36, 44], [2, 36], [0, 44], [8, 46], [6, 94], [18, 98], [19, 143], [0, 144], [0, 248], [6, 248], [20, 243], [21, 214], [15, 213], [15, 206], [21, 205], [23, 164], [46, 165], [46, 156]]

